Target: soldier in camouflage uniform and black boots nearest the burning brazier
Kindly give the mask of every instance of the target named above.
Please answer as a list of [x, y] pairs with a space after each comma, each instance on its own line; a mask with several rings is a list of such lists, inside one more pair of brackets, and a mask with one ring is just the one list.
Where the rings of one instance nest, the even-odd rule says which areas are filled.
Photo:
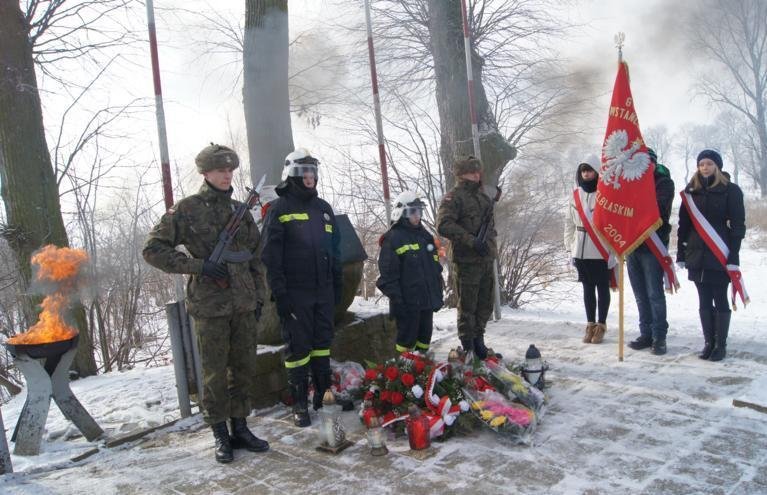
[[[218, 462], [231, 462], [233, 448], [264, 452], [269, 444], [248, 430], [248, 391], [253, 376], [256, 324], [264, 287], [255, 252], [261, 236], [246, 212], [229, 251], [244, 261], [214, 263], [207, 258], [239, 204], [232, 199], [237, 154], [212, 144], [195, 158], [205, 181], [197, 194], [171, 207], [152, 229], [144, 259], [167, 273], [190, 275], [187, 309], [194, 320], [203, 372], [203, 419], [211, 425]], [[183, 245], [190, 256], [176, 250]], [[225, 280], [224, 288], [217, 284]], [[227, 429], [231, 419], [231, 437]]]

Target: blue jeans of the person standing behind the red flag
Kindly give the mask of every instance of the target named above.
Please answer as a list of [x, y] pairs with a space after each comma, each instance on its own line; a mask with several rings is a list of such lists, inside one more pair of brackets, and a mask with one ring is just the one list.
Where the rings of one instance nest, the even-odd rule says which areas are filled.
[[639, 333], [647, 339], [665, 340], [668, 322], [663, 268], [655, 255], [643, 247], [628, 256], [626, 265], [639, 310]]

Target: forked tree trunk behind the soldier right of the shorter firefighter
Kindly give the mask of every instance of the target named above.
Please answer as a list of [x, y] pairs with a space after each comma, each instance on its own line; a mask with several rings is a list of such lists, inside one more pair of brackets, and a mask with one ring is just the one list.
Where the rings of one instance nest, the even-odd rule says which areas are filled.
[[[450, 188], [455, 182], [452, 173], [453, 162], [460, 156], [474, 154], [460, 0], [429, 0], [429, 36], [434, 58], [442, 139], [440, 157], [446, 185]], [[472, 74], [483, 181], [485, 184], [495, 185], [506, 164], [513, 160], [517, 153], [498, 132], [498, 123], [482, 86], [483, 63], [482, 57], [472, 47]]]

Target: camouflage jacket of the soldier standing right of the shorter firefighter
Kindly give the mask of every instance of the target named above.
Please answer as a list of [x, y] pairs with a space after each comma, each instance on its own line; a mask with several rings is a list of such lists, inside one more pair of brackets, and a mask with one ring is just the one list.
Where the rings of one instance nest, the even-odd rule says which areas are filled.
[[493, 200], [482, 191], [478, 182], [459, 180], [442, 198], [437, 214], [437, 232], [450, 240], [451, 259], [456, 263], [479, 263], [496, 256], [495, 218], [490, 218], [487, 256], [474, 249], [474, 239], [482, 225], [485, 212], [493, 207]]

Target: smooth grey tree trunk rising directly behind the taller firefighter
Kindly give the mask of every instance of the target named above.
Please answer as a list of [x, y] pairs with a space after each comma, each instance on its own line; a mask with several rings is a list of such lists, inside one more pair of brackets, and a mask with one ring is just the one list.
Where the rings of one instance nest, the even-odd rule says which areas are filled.
[[293, 151], [288, 54], [287, 0], [245, 0], [242, 93], [254, 184], [264, 174], [277, 183]]

